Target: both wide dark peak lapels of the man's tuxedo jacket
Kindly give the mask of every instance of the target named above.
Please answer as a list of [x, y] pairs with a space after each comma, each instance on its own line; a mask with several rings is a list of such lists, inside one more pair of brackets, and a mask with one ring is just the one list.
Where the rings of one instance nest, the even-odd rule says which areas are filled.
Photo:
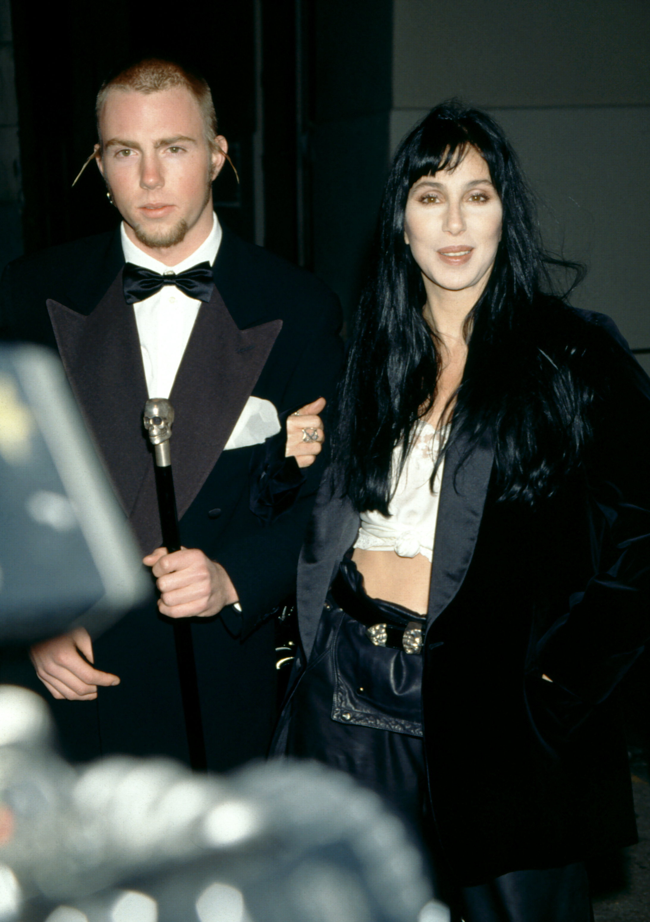
[[[56, 301], [48, 301], [48, 310], [68, 379], [122, 507], [143, 550], [153, 550], [160, 525], [153, 458], [142, 426], [145, 372], [122, 271], [87, 317]], [[179, 516], [215, 467], [281, 327], [275, 320], [239, 330], [216, 289], [202, 304], [169, 396]]]

